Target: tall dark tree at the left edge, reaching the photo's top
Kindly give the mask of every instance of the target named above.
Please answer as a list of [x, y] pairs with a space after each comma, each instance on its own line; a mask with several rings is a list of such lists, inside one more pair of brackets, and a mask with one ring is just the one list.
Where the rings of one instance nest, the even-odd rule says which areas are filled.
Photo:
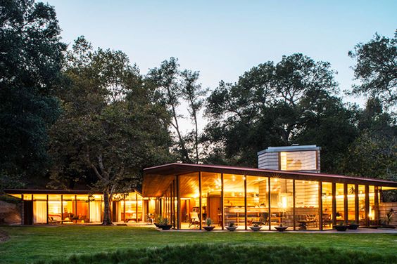
[[48, 168], [47, 131], [60, 114], [53, 96], [62, 81], [60, 33], [52, 6], [1, 1], [0, 188], [23, 185]]

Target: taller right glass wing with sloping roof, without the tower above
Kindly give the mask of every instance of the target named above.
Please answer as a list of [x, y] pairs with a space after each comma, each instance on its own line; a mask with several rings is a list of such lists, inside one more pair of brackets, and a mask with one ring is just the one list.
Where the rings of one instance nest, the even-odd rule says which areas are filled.
[[327, 230], [337, 223], [379, 223], [380, 193], [397, 182], [324, 173], [234, 166], [165, 164], [144, 170], [143, 195], [157, 197], [157, 215], [176, 229]]

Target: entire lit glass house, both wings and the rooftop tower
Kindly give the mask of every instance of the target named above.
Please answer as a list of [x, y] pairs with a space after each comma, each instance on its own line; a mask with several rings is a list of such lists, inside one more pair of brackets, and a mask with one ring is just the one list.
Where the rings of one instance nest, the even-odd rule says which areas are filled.
[[[168, 218], [175, 229], [330, 230], [338, 223], [377, 225], [382, 192], [397, 182], [320, 173], [320, 147], [268, 147], [258, 169], [165, 164], [144, 169], [142, 192], [115, 194], [113, 222]], [[103, 195], [88, 191], [6, 190], [23, 200], [22, 223], [100, 223]]]

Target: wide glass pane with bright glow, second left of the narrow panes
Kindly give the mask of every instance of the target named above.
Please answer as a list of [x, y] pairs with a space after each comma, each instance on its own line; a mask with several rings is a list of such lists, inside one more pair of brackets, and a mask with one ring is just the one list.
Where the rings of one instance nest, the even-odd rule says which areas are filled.
[[270, 225], [294, 225], [294, 180], [270, 178]]

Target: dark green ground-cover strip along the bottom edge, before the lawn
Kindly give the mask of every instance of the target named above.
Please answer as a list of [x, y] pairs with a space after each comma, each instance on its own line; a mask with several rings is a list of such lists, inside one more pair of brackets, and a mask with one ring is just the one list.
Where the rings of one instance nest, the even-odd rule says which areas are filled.
[[[49, 263], [393, 263], [393, 256], [290, 246], [189, 244], [157, 249], [73, 255]], [[46, 262], [39, 262], [46, 263]]]

